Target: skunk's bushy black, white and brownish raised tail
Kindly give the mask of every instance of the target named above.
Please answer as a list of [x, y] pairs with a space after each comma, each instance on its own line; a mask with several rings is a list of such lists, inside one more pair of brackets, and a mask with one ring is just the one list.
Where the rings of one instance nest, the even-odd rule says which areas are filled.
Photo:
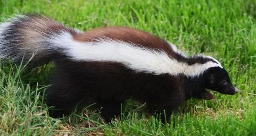
[[42, 15], [18, 16], [0, 23], [0, 60], [24, 63], [32, 58], [32, 65], [49, 62], [62, 49], [52, 42], [62, 33], [73, 35], [78, 31]]

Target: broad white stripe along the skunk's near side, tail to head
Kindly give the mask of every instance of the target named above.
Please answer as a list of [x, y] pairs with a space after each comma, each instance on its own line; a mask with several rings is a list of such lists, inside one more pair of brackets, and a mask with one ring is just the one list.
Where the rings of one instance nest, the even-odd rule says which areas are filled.
[[164, 51], [140, 48], [132, 43], [119, 40], [99, 40], [97, 42], [79, 42], [71, 34], [63, 32], [48, 39], [52, 45], [65, 48], [63, 52], [74, 61], [119, 62], [138, 72], [151, 74], [184, 74], [197, 77], [211, 67], [218, 67], [215, 62], [188, 65], [172, 59]]

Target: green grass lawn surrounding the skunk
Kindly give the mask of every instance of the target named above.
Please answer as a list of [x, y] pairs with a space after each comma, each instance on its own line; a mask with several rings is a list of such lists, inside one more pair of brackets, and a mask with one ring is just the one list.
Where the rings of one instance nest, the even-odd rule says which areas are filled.
[[255, 0], [0, 0], [1, 19], [26, 13], [46, 14], [84, 31], [102, 26], [149, 31], [183, 51], [218, 59], [240, 92], [191, 99], [167, 125], [136, 102], [128, 102], [123, 121], [112, 125], [90, 108], [52, 119], [44, 93], [54, 65], [28, 71], [0, 63], [0, 136], [256, 136]]

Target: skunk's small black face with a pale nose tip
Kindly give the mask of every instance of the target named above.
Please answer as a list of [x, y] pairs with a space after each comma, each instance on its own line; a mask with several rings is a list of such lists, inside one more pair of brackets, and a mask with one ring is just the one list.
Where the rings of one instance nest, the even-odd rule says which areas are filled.
[[218, 91], [222, 94], [234, 95], [238, 89], [233, 86], [229, 75], [224, 68], [212, 67], [204, 72], [205, 88]]

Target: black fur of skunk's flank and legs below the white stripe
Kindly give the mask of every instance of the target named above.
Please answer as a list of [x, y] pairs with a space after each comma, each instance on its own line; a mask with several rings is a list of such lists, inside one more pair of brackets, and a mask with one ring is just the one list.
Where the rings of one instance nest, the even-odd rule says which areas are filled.
[[52, 111], [54, 117], [68, 115], [78, 103], [78, 106], [96, 103], [102, 108], [102, 116], [110, 121], [119, 116], [121, 104], [132, 98], [146, 102], [152, 114], [163, 115], [165, 110], [168, 119], [186, 100], [202, 98], [201, 94], [208, 92], [204, 75], [193, 79], [183, 75], [153, 75], [132, 71], [115, 62], [72, 62], [63, 57], [55, 64], [55, 82], [47, 95], [48, 104], [61, 109]]

